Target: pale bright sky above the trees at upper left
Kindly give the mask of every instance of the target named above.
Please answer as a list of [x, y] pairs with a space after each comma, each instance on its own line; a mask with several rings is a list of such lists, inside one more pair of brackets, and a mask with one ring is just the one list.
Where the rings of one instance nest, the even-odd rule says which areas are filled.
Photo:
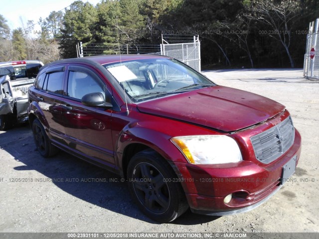
[[[75, 0], [0, 0], [0, 14], [7, 20], [10, 30], [26, 27], [28, 20], [34, 23], [39, 18], [46, 18], [51, 11], [64, 10]], [[101, 2], [101, 0], [82, 0], [88, 1], [93, 5]], [[23, 23], [22, 23], [23, 22]], [[24, 24], [24, 27], [23, 27]], [[40, 28], [35, 26], [35, 30]]]

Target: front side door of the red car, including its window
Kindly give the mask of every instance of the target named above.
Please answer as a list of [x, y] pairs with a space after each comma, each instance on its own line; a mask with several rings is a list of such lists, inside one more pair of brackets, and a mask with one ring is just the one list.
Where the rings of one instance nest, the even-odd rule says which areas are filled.
[[70, 149], [113, 167], [112, 109], [87, 107], [81, 103], [84, 95], [94, 92], [101, 92], [105, 99], [110, 99], [111, 88], [94, 69], [81, 64], [68, 67], [64, 87], [62, 117]]

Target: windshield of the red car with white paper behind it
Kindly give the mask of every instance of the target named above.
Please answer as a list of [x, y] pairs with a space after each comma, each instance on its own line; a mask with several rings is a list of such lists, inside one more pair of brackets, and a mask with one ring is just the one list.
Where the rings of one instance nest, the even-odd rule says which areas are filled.
[[133, 102], [215, 86], [210, 80], [174, 59], [142, 59], [106, 64]]

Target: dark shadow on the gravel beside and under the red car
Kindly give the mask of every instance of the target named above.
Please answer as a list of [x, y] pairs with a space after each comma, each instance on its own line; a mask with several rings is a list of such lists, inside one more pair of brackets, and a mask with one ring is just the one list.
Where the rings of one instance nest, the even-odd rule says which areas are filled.
[[[35, 170], [42, 180], [52, 182], [68, 194], [90, 204], [123, 214], [144, 222], [159, 224], [142, 214], [131, 200], [126, 182], [105, 169], [94, 166], [61, 151], [52, 158], [43, 158], [36, 151], [29, 125], [15, 127], [0, 134], [0, 148], [24, 165], [13, 170]], [[23, 177], [23, 176], [22, 176]], [[216, 220], [218, 217], [196, 215], [188, 210], [172, 222], [178, 225], [197, 225]]]

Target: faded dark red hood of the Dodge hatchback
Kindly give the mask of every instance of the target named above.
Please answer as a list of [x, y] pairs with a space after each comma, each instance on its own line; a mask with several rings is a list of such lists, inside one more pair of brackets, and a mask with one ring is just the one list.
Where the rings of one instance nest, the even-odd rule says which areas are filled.
[[246, 91], [214, 86], [139, 103], [137, 108], [143, 113], [231, 132], [272, 118], [285, 106]]

